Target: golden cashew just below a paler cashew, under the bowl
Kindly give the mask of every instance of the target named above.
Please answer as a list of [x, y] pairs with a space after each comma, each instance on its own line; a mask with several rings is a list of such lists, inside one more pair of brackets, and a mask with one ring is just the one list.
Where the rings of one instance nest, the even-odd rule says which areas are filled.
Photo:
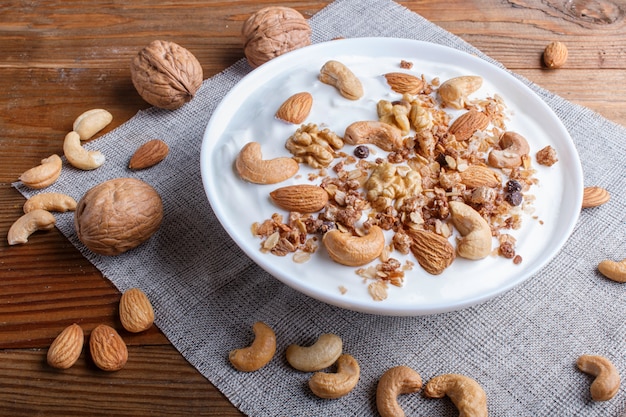
[[351, 355], [344, 354], [337, 359], [337, 372], [316, 372], [309, 379], [309, 388], [320, 398], [339, 398], [348, 394], [359, 382], [361, 368]]

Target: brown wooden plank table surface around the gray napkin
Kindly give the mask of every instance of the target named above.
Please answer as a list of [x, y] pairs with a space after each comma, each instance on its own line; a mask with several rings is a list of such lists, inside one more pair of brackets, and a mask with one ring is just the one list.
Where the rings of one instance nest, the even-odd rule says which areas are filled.
[[[626, 125], [626, 6], [621, 0], [400, 2], [513, 71]], [[9, 247], [24, 198], [11, 187], [52, 153], [77, 115], [105, 108], [110, 130], [148, 105], [129, 62], [154, 39], [189, 49], [205, 78], [243, 57], [243, 21], [264, 6], [309, 17], [328, 2], [191, 0], [16, 1], [0, 7], [0, 415], [240, 416], [156, 328], [124, 334], [132, 361], [99, 371], [83, 353], [70, 370], [46, 365], [65, 326], [121, 328], [120, 293], [57, 230]], [[565, 67], [542, 67], [544, 47], [569, 47]], [[594, 140], [594, 138], [589, 138]]]

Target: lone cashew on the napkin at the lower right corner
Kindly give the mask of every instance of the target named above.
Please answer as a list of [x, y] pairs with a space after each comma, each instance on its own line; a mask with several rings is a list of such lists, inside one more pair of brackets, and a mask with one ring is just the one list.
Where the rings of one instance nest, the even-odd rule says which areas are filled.
[[582, 372], [595, 376], [589, 388], [594, 401], [607, 401], [617, 394], [621, 379], [613, 363], [599, 355], [582, 355], [576, 361]]

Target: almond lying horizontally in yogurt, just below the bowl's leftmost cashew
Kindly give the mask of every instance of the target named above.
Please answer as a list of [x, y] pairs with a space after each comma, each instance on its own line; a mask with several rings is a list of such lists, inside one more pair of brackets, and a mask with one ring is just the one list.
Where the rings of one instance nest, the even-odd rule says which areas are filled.
[[322, 187], [310, 184], [288, 185], [270, 193], [280, 208], [298, 213], [315, 213], [328, 202], [328, 193]]

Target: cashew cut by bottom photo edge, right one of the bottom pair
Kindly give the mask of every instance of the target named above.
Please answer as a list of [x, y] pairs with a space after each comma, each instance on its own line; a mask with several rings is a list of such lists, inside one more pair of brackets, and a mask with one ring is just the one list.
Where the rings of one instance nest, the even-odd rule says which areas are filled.
[[487, 417], [487, 394], [474, 379], [459, 374], [432, 378], [424, 387], [429, 398], [448, 396], [459, 410], [459, 417]]

